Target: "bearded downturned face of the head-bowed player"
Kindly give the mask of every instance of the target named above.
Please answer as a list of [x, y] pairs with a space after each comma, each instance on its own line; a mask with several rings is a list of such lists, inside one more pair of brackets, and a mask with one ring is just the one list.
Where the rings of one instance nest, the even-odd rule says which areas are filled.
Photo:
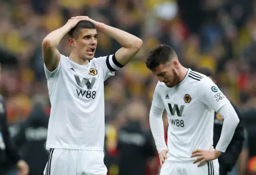
[[165, 85], [170, 88], [174, 87], [179, 81], [178, 70], [175, 64], [160, 64], [152, 70], [153, 74], [158, 77], [159, 81], [164, 82]]

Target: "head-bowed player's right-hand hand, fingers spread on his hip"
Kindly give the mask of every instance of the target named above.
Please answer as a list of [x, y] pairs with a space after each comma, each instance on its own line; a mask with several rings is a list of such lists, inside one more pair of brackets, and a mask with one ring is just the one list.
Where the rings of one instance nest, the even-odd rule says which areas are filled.
[[214, 159], [218, 159], [220, 156], [221, 152], [217, 150], [213, 150], [212, 147], [209, 150], [202, 150], [202, 149], [196, 149], [195, 151], [192, 152], [191, 157], [197, 157], [193, 163], [198, 163], [198, 167], [202, 165], [202, 163]]

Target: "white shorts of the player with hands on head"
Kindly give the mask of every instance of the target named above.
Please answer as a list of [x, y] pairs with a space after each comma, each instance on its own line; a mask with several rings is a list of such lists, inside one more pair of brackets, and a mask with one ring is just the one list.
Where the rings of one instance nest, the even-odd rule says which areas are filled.
[[50, 149], [44, 175], [106, 175], [103, 151]]

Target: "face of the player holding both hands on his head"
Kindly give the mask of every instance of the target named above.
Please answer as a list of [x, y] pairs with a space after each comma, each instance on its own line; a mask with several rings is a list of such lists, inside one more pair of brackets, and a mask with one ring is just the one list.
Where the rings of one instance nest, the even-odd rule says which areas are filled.
[[97, 47], [97, 30], [81, 29], [77, 39], [74, 39], [74, 47], [80, 58], [93, 59]]

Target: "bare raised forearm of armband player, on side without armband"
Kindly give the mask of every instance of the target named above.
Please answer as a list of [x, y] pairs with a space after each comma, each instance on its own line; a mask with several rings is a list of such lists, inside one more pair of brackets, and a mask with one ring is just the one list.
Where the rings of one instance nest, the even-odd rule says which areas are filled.
[[49, 33], [43, 40], [42, 45], [47, 45], [48, 47], [57, 47], [60, 40], [70, 31], [69, 26], [63, 26]]

